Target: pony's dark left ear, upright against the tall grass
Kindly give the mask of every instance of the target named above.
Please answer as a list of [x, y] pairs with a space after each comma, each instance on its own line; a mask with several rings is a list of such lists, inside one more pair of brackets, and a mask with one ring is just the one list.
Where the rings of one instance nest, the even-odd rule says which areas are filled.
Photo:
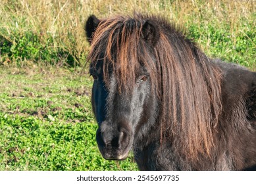
[[91, 15], [86, 21], [86, 26], [84, 27], [84, 30], [86, 31], [86, 37], [89, 43], [91, 43], [93, 33], [95, 32], [97, 26], [99, 25], [99, 22], [101, 21], [94, 15]]

